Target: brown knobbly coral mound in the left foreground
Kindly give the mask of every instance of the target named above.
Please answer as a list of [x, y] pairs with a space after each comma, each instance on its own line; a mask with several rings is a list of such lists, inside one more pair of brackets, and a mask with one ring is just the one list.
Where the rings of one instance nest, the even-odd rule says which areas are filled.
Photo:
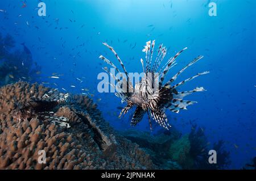
[[[14, 120], [15, 101], [24, 104], [52, 91], [27, 82], [1, 87], [0, 169], [158, 168], [139, 145], [113, 131], [87, 96], [74, 95], [53, 108], [55, 116], [69, 120], [70, 128], [55, 125], [51, 117]], [[46, 151], [46, 163], [38, 162], [39, 150]]]

